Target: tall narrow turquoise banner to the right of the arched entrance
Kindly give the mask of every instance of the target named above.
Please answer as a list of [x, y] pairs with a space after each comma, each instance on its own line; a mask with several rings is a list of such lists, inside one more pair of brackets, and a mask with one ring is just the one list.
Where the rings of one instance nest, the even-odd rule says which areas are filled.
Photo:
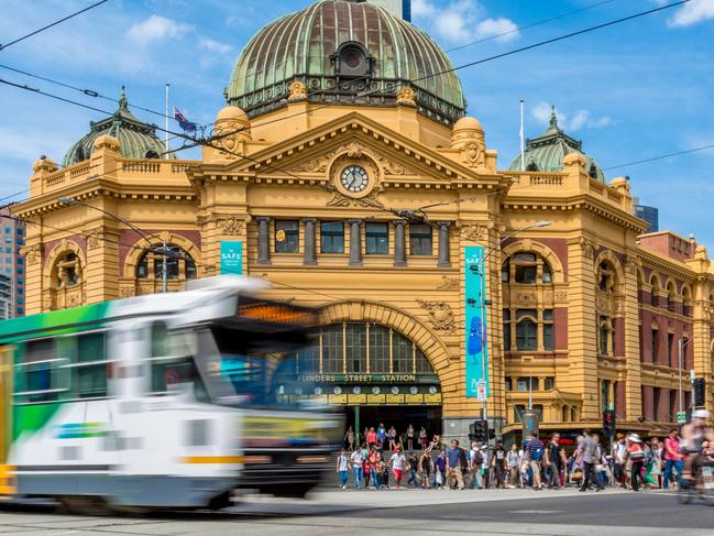
[[483, 245], [464, 248], [464, 333], [466, 396], [485, 402], [488, 389], [486, 280]]

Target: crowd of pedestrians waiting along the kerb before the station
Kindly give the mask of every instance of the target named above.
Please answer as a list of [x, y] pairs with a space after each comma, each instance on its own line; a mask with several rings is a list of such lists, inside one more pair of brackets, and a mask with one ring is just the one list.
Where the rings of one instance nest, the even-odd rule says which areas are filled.
[[375, 490], [404, 485], [458, 490], [578, 486], [582, 492], [606, 486], [667, 490], [672, 483], [677, 485], [685, 459], [678, 430], [672, 430], [664, 441], [657, 437], [642, 440], [635, 433], [618, 434], [609, 448], [597, 434], [584, 430], [568, 451], [558, 433], [546, 442], [532, 434], [523, 445], [508, 448], [502, 441], [491, 448], [475, 441], [463, 448], [455, 439], [443, 445], [439, 435], [428, 440], [424, 427], [416, 433], [411, 425], [404, 437], [394, 427], [383, 425], [367, 428], [363, 437], [366, 441], [356, 447], [352, 429], [345, 434], [347, 447], [336, 468], [343, 490], [348, 485]]

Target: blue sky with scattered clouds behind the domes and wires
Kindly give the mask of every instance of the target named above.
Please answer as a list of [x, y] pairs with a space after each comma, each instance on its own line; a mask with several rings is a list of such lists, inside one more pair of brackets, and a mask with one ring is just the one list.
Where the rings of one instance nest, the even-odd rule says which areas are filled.
[[[414, 22], [446, 50], [543, 19], [578, 14], [450, 52], [461, 65], [667, 3], [662, 0], [413, 0]], [[0, 42], [35, 30], [90, 0], [2, 0]], [[210, 122], [223, 106], [231, 66], [248, 40], [273, 19], [309, 0], [110, 0], [0, 52], [0, 63], [163, 110], [173, 105]], [[561, 125], [583, 141], [602, 167], [714, 144], [712, 81], [714, 0], [692, 0], [534, 51], [460, 72], [469, 114], [479, 118], [499, 167], [518, 152], [518, 101], [526, 134], [546, 127], [556, 105]], [[29, 84], [112, 111], [116, 105], [0, 69]], [[140, 118], [162, 122], [136, 111]], [[64, 152], [101, 114], [0, 86], [0, 197], [29, 185], [32, 162]], [[163, 124], [163, 123], [162, 123]], [[172, 124], [172, 129], [177, 125]], [[197, 153], [186, 152], [187, 157]], [[714, 247], [714, 150], [606, 171], [629, 175], [644, 204], [658, 206], [660, 227]]]

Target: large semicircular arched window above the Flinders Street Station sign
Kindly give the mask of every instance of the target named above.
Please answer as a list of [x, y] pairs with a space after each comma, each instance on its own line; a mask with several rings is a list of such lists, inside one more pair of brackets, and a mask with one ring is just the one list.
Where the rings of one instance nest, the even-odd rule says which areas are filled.
[[300, 374], [436, 374], [414, 341], [376, 322], [325, 326], [319, 344], [297, 358]]

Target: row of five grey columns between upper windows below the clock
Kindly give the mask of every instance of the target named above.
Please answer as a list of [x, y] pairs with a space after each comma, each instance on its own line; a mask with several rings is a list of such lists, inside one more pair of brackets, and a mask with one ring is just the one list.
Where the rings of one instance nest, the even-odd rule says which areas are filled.
[[[255, 218], [257, 221], [257, 263], [271, 264], [271, 234], [270, 234], [270, 217], [259, 216]], [[304, 264], [317, 264], [317, 240], [316, 240], [316, 225], [317, 218], [304, 218], [305, 228], [305, 248], [304, 248]], [[350, 227], [350, 265], [362, 265], [362, 220], [353, 218], [348, 220]], [[407, 265], [407, 249], [406, 249], [406, 232], [405, 220], [395, 220], [394, 225], [394, 265]], [[450, 221], [437, 221], [437, 230], [439, 234], [438, 241], [438, 266], [450, 267], [449, 260], [449, 228]]]

